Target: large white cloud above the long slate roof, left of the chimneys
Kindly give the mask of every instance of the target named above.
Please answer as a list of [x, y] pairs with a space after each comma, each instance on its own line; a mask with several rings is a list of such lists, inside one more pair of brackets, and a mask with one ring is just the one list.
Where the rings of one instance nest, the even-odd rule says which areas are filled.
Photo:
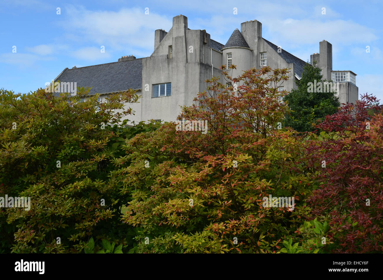
[[[123, 8], [119, 11], [89, 11], [70, 5], [65, 13], [68, 19], [62, 26], [70, 34], [75, 33], [81, 44], [105, 45], [115, 50], [131, 48], [154, 48], [154, 30], [169, 31], [172, 21], [165, 16], [144, 8]], [[70, 34], [65, 36], [70, 37]]]

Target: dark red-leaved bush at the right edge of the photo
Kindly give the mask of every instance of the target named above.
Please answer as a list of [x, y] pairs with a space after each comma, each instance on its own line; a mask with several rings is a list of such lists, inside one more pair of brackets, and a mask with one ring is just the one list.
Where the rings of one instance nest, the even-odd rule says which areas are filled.
[[382, 105], [365, 94], [317, 125], [308, 141], [307, 160], [321, 185], [308, 200], [326, 216], [326, 248], [336, 253], [383, 251]]

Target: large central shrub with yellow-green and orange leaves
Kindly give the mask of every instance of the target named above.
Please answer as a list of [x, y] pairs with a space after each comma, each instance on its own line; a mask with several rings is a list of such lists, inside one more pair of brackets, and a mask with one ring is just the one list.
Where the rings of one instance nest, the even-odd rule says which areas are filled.
[[[234, 67], [234, 66], [233, 66]], [[309, 178], [295, 172], [299, 137], [278, 129], [287, 110], [278, 85], [287, 70], [249, 70], [208, 80], [208, 92], [183, 107], [179, 119], [207, 120], [208, 133], [167, 123], [128, 142], [121, 169], [131, 192], [123, 220], [139, 226], [144, 252], [277, 252], [308, 210]], [[149, 160], [150, 167], [144, 167]], [[295, 197], [294, 211], [262, 207], [263, 197]]]

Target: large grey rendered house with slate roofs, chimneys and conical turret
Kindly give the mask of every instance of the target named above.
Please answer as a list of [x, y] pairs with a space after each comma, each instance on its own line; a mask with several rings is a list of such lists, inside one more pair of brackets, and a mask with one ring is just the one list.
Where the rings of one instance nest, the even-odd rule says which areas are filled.
[[[356, 74], [332, 70], [332, 45], [329, 42], [319, 43], [319, 53], [310, 57], [311, 63], [314, 60], [322, 68], [324, 79], [339, 82], [340, 103], [357, 100]], [[129, 120], [175, 121], [180, 106], [190, 106], [198, 92], [206, 90], [206, 79], [212, 75], [221, 77], [221, 65], [237, 65], [233, 77], [244, 70], [265, 65], [291, 68], [290, 79], [280, 88], [290, 91], [296, 88], [295, 81], [302, 77], [305, 63], [262, 38], [262, 24], [257, 20], [241, 23], [241, 31], [235, 29], [223, 45], [211, 39], [205, 30], [189, 29], [187, 17], [179, 15], [173, 18], [169, 32], [155, 30], [154, 52], [150, 57], [137, 59], [129, 55], [117, 62], [65, 68], [55, 81], [92, 86], [90, 94], [101, 94], [101, 100], [110, 93], [134, 88], [142, 98], [140, 103], [127, 105], [135, 111]]]

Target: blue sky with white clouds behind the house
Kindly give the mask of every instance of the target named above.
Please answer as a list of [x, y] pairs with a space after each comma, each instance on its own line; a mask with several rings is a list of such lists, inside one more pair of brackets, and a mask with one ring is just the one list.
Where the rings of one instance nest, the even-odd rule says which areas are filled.
[[333, 70], [355, 72], [359, 94], [383, 99], [383, 73], [378, 71], [383, 65], [382, 8], [379, 0], [1, 0], [0, 88], [27, 93], [44, 87], [66, 67], [115, 62], [123, 55], [150, 56], [154, 30], [169, 31], [173, 16], [185, 15], [190, 29], [206, 29], [222, 44], [242, 22], [259, 20], [262, 37], [305, 61], [319, 52], [319, 41], [327, 40]]

